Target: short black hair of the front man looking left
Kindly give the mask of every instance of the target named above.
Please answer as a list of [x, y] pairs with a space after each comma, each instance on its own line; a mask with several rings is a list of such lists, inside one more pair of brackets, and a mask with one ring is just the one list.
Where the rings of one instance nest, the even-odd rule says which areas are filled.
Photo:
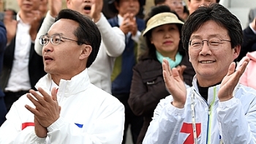
[[74, 20], [79, 24], [78, 29], [76, 29], [73, 34], [78, 38], [78, 45], [80, 45], [80, 42], [91, 45], [91, 54], [86, 64], [86, 67], [90, 67], [97, 57], [102, 40], [96, 24], [88, 16], [70, 9], [61, 10], [56, 17], [56, 21], [60, 19]]

